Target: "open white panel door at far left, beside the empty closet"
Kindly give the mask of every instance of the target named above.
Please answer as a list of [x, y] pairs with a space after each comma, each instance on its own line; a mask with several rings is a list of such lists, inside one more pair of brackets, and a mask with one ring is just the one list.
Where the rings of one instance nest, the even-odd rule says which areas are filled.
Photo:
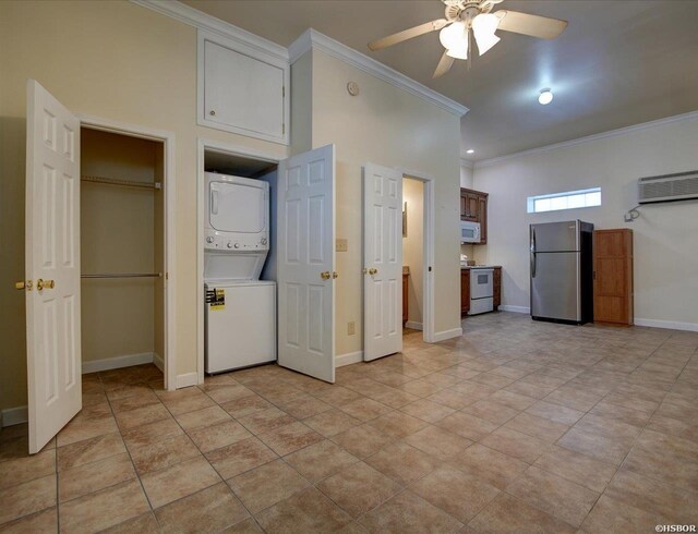
[[34, 80], [27, 82], [26, 120], [26, 349], [35, 453], [82, 409], [80, 121]]

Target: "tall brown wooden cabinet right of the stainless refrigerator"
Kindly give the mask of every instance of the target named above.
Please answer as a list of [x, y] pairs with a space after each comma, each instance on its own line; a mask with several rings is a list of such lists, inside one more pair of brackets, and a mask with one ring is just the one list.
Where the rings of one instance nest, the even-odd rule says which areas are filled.
[[593, 232], [593, 320], [633, 325], [633, 230]]

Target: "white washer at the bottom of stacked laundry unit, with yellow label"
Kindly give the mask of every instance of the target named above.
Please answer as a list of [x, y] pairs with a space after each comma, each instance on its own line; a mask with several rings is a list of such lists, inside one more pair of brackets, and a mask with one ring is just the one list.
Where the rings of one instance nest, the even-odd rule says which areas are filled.
[[206, 373], [276, 361], [276, 283], [206, 284], [215, 290], [218, 303], [206, 303], [204, 317]]

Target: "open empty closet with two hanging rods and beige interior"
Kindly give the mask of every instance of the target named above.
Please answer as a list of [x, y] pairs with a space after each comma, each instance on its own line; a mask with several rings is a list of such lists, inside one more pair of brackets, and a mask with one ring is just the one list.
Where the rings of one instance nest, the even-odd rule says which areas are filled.
[[85, 125], [80, 138], [84, 383], [172, 389], [165, 142]]

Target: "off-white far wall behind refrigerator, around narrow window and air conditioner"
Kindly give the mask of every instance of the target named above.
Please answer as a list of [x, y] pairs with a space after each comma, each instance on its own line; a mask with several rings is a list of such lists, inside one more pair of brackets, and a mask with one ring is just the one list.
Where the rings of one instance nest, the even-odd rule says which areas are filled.
[[[528, 226], [581, 219], [635, 234], [635, 316], [698, 329], [698, 201], [636, 205], [637, 179], [698, 169], [698, 119], [626, 132], [476, 167], [474, 186], [490, 193], [486, 246], [479, 262], [501, 264], [503, 304], [529, 306]], [[602, 206], [527, 214], [531, 195], [601, 186]], [[657, 325], [659, 326], [659, 325]]]

